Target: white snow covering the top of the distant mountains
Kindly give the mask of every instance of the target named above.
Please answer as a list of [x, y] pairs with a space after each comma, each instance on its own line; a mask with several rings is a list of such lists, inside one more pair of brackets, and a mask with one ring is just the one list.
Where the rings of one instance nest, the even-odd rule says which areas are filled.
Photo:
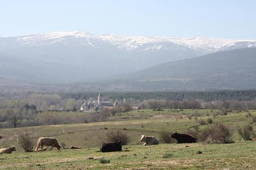
[[[157, 51], [166, 49], [166, 44], [174, 43], [180, 46], [185, 46], [190, 49], [198, 51], [214, 52], [228, 46], [229, 44], [238, 43], [242, 40], [223, 39], [223, 38], [205, 38], [205, 37], [192, 37], [192, 38], [173, 38], [173, 37], [145, 37], [145, 36], [115, 36], [111, 34], [92, 34], [85, 31], [71, 31], [71, 32], [51, 32], [33, 34], [31, 36], [17, 37], [17, 42], [21, 44], [29, 44], [33, 46], [42, 46], [56, 42], [66, 43], [66, 39], [77, 39], [81, 44], [88, 44], [94, 48], [97, 44], [110, 43], [120, 49], [132, 51], [134, 49], [144, 46], [141, 50]], [[249, 40], [248, 42], [254, 42]], [[249, 44], [248, 47], [255, 47]]]

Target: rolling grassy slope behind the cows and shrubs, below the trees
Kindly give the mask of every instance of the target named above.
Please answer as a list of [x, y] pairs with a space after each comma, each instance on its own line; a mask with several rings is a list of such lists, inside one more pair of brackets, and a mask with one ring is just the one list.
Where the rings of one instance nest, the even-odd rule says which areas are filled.
[[[18, 146], [17, 136], [19, 133], [28, 131], [35, 146], [37, 139], [42, 136], [56, 137], [60, 143], [64, 142], [67, 146], [75, 145], [83, 148], [99, 147], [105, 141], [105, 135], [111, 129], [124, 129], [126, 128], [127, 134], [131, 138], [129, 144], [141, 144], [139, 138], [141, 134], [154, 135], [159, 137], [161, 129], [168, 129], [174, 132], [185, 132], [186, 129], [193, 126], [198, 126], [199, 129], [205, 128], [209, 125], [200, 125], [195, 121], [197, 119], [213, 119], [213, 122], [224, 122], [231, 124], [235, 130], [237, 126], [248, 124], [252, 121], [252, 117], [256, 116], [256, 111], [249, 111], [252, 116], [248, 116], [248, 112], [229, 112], [227, 115], [220, 116], [220, 111], [210, 109], [186, 109], [182, 112], [152, 111], [141, 110], [121, 113], [120, 115], [110, 117], [110, 122], [96, 122], [96, 123], [83, 123], [83, 124], [58, 124], [51, 126], [36, 126], [27, 128], [10, 128], [0, 129], [0, 147]], [[62, 114], [62, 113], [61, 113]], [[207, 116], [209, 115], [209, 116]], [[214, 116], [215, 115], [215, 118]], [[189, 117], [192, 117], [189, 119]], [[255, 123], [254, 123], [255, 127]], [[256, 129], [256, 127], [255, 127]], [[234, 139], [239, 140], [237, 133], [234, 134]], [[35, 147], [34, 147], [35, 148]], [[21, 152], [21, 148], [17, 148]]]

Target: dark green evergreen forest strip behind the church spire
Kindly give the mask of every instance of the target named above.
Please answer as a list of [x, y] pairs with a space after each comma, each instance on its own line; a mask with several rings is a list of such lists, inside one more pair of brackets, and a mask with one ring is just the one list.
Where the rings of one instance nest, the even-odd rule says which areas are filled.
[[[223, 91], [181, 91], [181, 92], [104, 92], [107, 100], [128, 99], [131, 101], [143, 101], [145, 99], [168, 99], [171, 101], [184, 101], [201, 99], [203, 101], [250, 101], [256, 98], [256, 90], [223, 90]], [[89, 99], [96, 98], [99, 92], [60, 93], [62, 98]]]

